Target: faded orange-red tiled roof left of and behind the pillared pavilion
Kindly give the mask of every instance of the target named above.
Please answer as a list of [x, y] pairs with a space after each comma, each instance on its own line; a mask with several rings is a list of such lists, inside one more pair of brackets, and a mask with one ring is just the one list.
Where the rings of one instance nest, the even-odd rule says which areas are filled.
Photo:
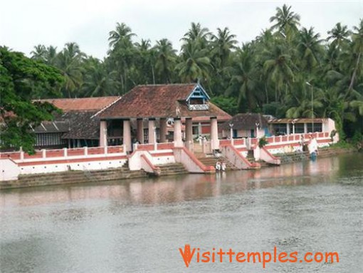
[[57, 108], [68, 111], [98, 111], [117, 101], [118, 96], [96, 98], [49, 98], [41, 101], [52, 103]]

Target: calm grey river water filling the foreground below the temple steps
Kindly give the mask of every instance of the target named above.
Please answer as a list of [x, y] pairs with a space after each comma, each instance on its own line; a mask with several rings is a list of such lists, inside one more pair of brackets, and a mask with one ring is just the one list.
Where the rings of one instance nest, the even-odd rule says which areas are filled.
[[[338, 252], [196, 262], [179, 248]], [[196, 250], [197, 251], [197, 250]], [[219, 257], [219, 256], [217, 256]], [[363, 272], [363, 154], [277, 168], [0, 192], [0, 272]]]

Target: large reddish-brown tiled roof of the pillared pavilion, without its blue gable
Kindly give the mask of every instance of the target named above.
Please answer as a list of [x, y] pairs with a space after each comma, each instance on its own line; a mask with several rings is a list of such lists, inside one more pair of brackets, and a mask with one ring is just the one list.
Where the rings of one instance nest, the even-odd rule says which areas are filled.
[[231, 118], [228, 113], [212, 103], [209, 103], [209, 110], [188, 110], [185, 101], [194, 87], [196, 83], [136, 86], [99, 116], [102, 119], [169, 118], [176, 117], [179, 108], [181, 117], [217, 116], [225, 120]]

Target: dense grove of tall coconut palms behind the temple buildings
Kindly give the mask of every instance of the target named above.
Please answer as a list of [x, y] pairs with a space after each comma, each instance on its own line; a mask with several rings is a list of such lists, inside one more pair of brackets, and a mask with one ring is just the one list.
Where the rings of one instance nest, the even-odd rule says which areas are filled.
[[[62, 71], [64, 97], [122, 95], [136, 85], [199, 81], [231, 114], [332, 118], [341, 138], [362, 131], [363, 20], [351, 30], [335, 24], [322, 40], [314, 28], [300, 26], [291, 6], [277, 7], [271, 15], [270, 28], [242, 46], [226, 27], [210, 31], [193, 22], [178, 53], [167, 38], [135, 43], [130, 26], [117, 23], [109, 32], [105, 60], [87, 56], [76, 43], [59, 52], [38, 45], [32, 55]], [[32, 91], [33, 97], [49, 96], [43, 88]]]

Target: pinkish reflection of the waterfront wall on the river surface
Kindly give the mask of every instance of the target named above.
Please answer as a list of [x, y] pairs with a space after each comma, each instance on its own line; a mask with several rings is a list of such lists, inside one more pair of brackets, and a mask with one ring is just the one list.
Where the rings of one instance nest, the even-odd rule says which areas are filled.
[[[341, 160], [342, 161], [342, 160]], [[121, 200], [127, 203], [160, 204], [226, 195], [253, 188], [298, 185], [332, 180], [339, 158], [294, 163], [261, 170], [219, 172], [212, 175], [182, 175], [157, 179], [36, 187], [1, 192], [1, 207], [33, 206], [75, 200]], [[0, 210], [1, 212], [1, 210]]]

